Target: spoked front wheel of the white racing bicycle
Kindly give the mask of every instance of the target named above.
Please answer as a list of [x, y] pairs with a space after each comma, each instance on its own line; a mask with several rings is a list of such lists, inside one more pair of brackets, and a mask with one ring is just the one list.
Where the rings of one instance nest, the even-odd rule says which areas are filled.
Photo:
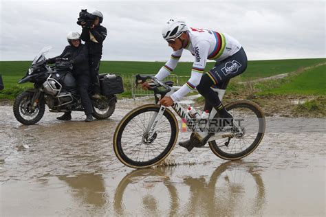
[[160, 106], [146, 104], [133, 109], [118, 124], [113, 137], [113, 148], [118, 159], [131, 168], [149, 168], [163, 161], [177, 141], [178, 126], [175, 115], [165, 109], [156, 133], [149, 136], [149, 125], [160, 111]]

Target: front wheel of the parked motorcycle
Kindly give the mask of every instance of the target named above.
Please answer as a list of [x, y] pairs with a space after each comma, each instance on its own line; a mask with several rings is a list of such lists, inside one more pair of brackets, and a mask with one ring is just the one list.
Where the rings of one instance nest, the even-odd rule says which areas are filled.
[[34, 104], [34, 102], [32, 102], [33, 95], [34, 92], [23, 92], [14, 100], [14, 117], [16, 117], [17, 121], [21, 122], [21, 124], [36, 124], [44, 115], [45, 104], [43, 100], [36, 99], [38, 103], [34, 109], [32, 108]]

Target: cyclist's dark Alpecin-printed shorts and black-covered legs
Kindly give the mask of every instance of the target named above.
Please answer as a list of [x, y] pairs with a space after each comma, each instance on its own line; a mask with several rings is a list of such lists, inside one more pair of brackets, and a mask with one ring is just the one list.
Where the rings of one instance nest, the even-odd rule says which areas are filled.
[[239, 76], [246, 70], [247, 62], [246, 52], [241, 47], [239, 52], [217, 62], [213, 69], [202, 76], [196, 88], [206, 100], [204, 110], [210, 111], [212, 107], [216, 108], [221, 105], [219, 96], [210, 87], [217, 86], [219, 89], [226, 89], [231, 78]]

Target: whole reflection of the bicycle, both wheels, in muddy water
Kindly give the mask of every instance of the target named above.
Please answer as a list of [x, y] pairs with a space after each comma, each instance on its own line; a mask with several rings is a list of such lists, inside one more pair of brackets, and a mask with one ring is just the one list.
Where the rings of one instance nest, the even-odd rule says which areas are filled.
[[[166, 175], [169, 170], [173, 173], [174, 168], [135, 170], [120, 181], [113, 208], [118, 215], [259, 214], [265, 203], [265, 187], [253, 169], [250, 163], [226, 162], [215, 169], [209, 181], [203, 177], [186, 177], [181, 183], [171, 181]], [[184, 187], [188, 190], [183, 190]], [[189, 192], [187, 198], [185, 192]]]

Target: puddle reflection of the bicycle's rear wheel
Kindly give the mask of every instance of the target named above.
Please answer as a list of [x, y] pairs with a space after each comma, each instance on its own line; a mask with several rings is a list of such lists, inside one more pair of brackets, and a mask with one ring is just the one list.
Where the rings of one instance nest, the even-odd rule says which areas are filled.
[[263, 180], [254, 173], [252, 165], [240, 162], [222, 163], [210, 176], [208, 183], [203, 178], [186, 178], [185, 183], [191, 188], [191, 202], [186, 205], [187, 214], [259, 214], [265, 203]]

